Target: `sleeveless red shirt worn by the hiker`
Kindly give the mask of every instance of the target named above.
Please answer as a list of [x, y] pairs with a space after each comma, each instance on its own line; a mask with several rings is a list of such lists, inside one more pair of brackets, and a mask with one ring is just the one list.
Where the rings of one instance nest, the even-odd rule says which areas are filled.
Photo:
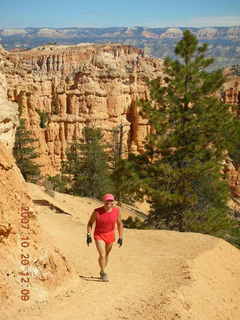
[[96, 208], [96, 225], [94, 233], [111, 232], [115, 229], [115, 224], [119, 214], [119, 208], [113, 207], [111, 211], [105, 211], [104, 206]]

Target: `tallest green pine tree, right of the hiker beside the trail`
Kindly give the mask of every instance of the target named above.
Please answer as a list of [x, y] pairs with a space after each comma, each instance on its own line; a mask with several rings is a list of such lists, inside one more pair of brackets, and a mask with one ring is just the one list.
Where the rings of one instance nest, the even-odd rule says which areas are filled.
[[222, 163], [236, 149], [240, 124], [215, 95], [225, 79], [222, 70], [206, 71], [213, 62], [206, 51], [207, 44], [184, 31], [175, 48], [178, 58], [166, 58], [164, 77], [148, 81], [150, 99], [139, 105], [152, 133], [134, 162], [142, 161], [149, 224], [227, 237], [236, 224]]

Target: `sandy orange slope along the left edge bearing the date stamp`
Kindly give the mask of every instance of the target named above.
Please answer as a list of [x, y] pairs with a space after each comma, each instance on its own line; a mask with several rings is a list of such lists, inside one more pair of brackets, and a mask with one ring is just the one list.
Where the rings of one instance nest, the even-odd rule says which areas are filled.
[[[1, 51], [0, 64], [5, 63], [6, 55]], [[20, 301], [29, 306], [44, 301], [51, 289], [74, 274], [74, 268], [37, 221], [32, 198], [12, 155], [17, 105], [7, 100], [6, 81], [4, 75], [0, 77], [0, 314], [5, 318]]]

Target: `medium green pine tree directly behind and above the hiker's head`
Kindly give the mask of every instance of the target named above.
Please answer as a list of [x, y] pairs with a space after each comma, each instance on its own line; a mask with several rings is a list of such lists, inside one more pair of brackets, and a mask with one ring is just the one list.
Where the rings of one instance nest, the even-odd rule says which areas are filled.
[[72, 177], [70, 192], [74, 195], [101, 199], [104, 193], [112, 192], [107, 145], [102, 144], [100, 128], [85, 127], [83, 142], [76, 140], [67, 149], [67, 160], [62, 163], [62, 172]]

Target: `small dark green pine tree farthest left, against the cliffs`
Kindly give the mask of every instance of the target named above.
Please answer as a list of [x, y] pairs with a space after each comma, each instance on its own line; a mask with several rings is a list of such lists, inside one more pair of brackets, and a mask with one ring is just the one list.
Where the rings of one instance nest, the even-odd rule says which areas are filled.
[[20, 118], [15, 135], [13, 155], [23, 177], [28, 182], [36, 182], [40, 177], [40, 165], [32, 161], [32, 159], [39, 156], [39, 153], [37, 153], [32, 146], [32, 143], [35, 141], [37, 141], [37, 139], [32, 138], [32, 132], [26, 130], [25, 119]]

